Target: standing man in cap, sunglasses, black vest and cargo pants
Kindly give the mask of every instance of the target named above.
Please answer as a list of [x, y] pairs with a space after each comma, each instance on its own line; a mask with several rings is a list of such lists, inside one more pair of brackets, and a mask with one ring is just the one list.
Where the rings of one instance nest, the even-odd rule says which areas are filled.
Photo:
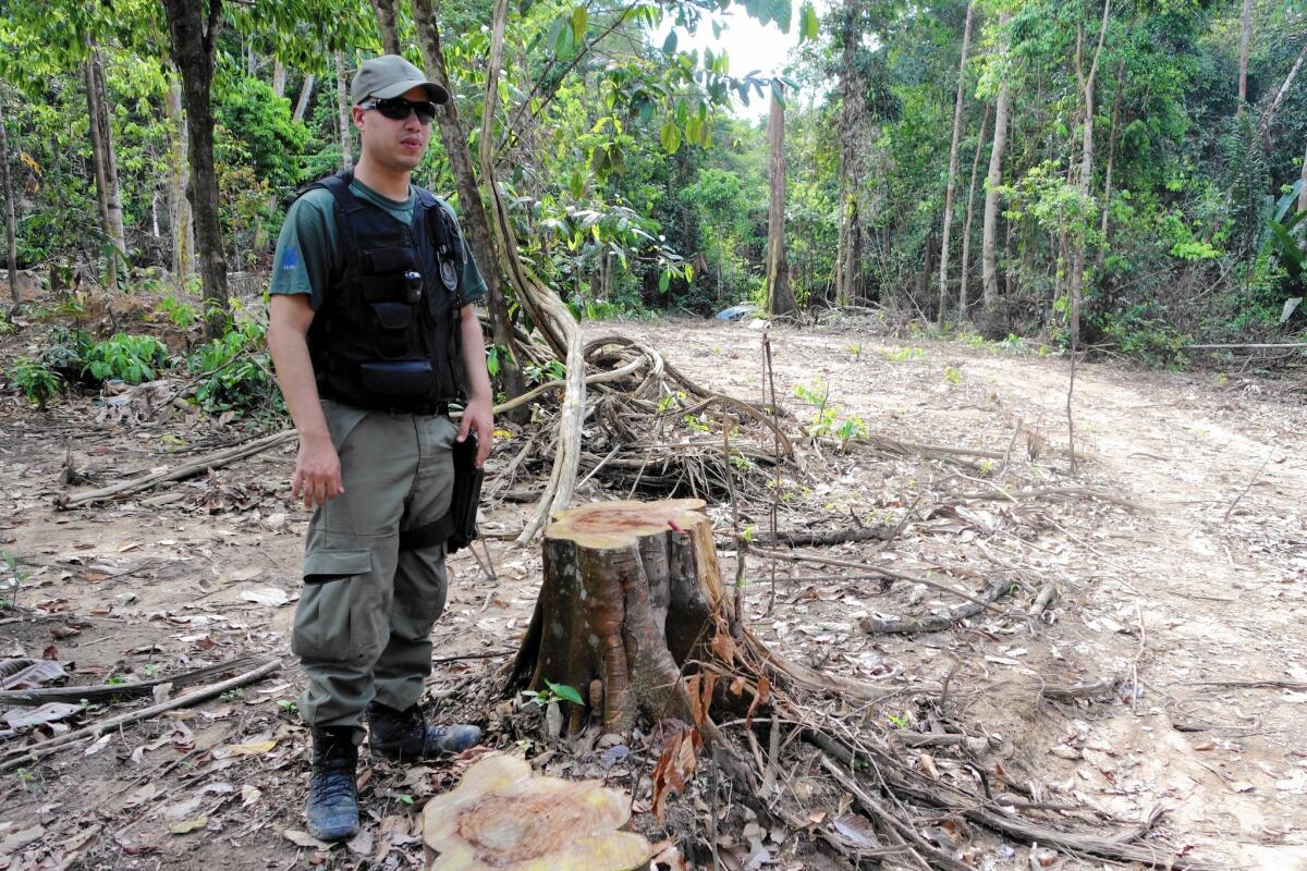
[[[299, 430], [290, 490], [314, 509], [293, 644], [312, 729], [308, 832], [358, 831], [354, 781], [367, 721], [374, 755], [409, 760], [474, 746], [476, 726], [427, 726], [418, 708], [444, 609], [442, 521], [452, 448], [490, 453], [491, 392], [472, 306], [485, 283], [447, 204], [409, 183], [443, 87], [396, 55], [354, 76], [362, 151], [286, 214], [268, 349]], [[450, 402], [464, 401], [460, 424]]]

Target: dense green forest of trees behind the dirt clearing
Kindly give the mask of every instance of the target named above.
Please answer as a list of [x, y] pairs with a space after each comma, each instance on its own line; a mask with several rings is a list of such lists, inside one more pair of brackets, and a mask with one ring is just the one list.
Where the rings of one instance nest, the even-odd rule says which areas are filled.
[[[732, 74], [723, 12], [792, 52]], [[30, 277], [0, 279], [169, 300], [221, 336], [297, 191], [357, 154], [353, 71], [399, 48], [435, 51], [455, 95], [416, 180], [467, 219], [489, 135], [521, 262], [580, 317], [788, 294], [1151, 363], [1302, 330], [1300, 0], [525, 0], [482, 119], [493, 13], [4, 4], [5, 260]], [[497, 272], [498, 236], [471, 235]], [[521, 312], [491, 283], [502, 343]]]

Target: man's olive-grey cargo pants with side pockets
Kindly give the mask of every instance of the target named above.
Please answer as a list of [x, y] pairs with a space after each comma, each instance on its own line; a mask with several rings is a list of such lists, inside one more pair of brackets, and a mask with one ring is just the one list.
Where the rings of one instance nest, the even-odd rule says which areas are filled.
[[431, 626], [444, 610], [444, 543], [400, 551], [400, 530], [450, 509], [456, 426], [443, 415], [323, 400], [345, 491], [314, 511], [291, 650], [310, 726], [353, 726], [369, 703], [403, 710], [431, 673]]

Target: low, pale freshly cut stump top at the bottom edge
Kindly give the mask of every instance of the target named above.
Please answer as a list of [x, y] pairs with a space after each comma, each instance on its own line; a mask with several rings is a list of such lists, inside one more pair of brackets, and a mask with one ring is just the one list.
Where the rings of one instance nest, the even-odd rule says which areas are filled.
[[634, 871], [650, 842], [618, 831], [630, 816], [630, 797], [599, 781], [533, 777], [529, 763], [494, 755], [426, 803], [422, 840], [438, 854], [430, 871]]

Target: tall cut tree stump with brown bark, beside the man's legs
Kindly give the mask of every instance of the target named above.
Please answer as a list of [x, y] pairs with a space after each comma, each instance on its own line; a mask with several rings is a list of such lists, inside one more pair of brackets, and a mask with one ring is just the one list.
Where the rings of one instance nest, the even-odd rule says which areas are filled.
[[[744, 637], [703, 507], [672, 499], [557, 512], [545, 529], [544, 585], [508, 688], [576, 688], [586, 704], [567, 706], [569, 733], [587, 720], [608, 733], [627, 733], [642, 718], [703, 725], [716, 678], [738, 676], [735, 640]], [[701, 682], [703, 671], [714, 674]], [[735, 695], [748, 686], [753, 697], [765, 696], [755, 678], [746, 670]]]

